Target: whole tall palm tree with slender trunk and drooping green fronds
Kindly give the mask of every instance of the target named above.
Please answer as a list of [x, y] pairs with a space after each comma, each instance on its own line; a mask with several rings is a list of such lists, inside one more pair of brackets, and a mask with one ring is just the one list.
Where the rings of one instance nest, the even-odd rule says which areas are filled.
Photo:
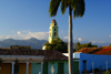
[[51, 0], [49, 7], [50, 17], [54, 17], [57, 14], [59, 6], [62, 14], [64, 14], [67, 8], [69, 8], [69, 74], [73, 74], [72, 12], [74, 19], [77, 17], [82, 17], [84, 14], [84, 0]]

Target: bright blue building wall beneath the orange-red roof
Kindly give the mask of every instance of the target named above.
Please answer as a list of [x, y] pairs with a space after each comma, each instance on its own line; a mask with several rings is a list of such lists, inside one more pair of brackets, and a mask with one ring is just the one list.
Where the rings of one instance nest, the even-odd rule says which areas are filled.
[[111, 68], [111, 55], [97, 55], [97, 54], [85, 54], [85, 53], [74, 53], [74, 59], [79, 59], [79, 71], [80, 73], [84, 70], [91, 72], [92, 62], [94, 68], [107, 70], [107, 61], [108, 68]]

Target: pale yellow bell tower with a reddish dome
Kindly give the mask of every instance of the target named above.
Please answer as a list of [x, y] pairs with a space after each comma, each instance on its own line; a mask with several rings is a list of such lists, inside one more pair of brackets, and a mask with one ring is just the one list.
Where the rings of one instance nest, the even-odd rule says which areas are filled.
[[49, 43], [52, 42], [52, 40], [58, 38], [58, 23], [57, 21], [53, 19], [50, 23], [49, 27]]

